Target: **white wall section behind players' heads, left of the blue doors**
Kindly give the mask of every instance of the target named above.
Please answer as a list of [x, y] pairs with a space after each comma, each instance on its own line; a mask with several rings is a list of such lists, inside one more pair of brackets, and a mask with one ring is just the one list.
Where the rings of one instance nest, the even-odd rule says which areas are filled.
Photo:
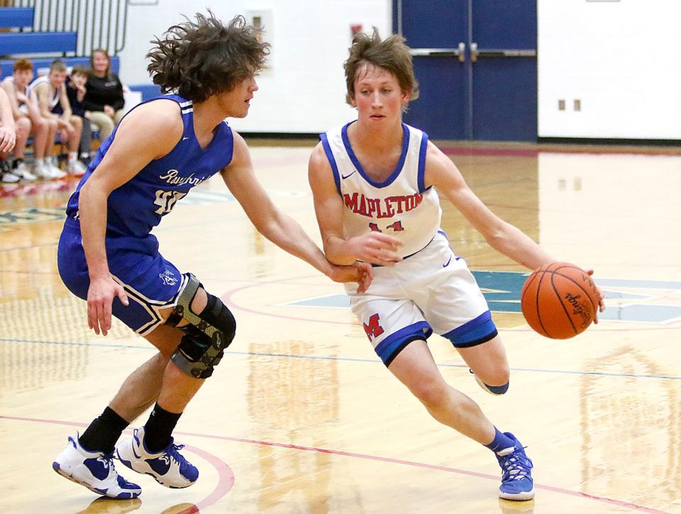
[[[229, 21], [248, 11], [270, 11], [270, 67], [258, 77], [260, 91], [243, 120], [233, 120], [244, 132], [316, 133], [353, 119], [345, 104], [343, 60], [350, 46], [350, 25], [365, 30], [391, 30], [390, 0], [160, 0], [157, 6], [128, 7], [126, 47], [120, 54], [121, 79], [149, 84], [145, 55], [154, 35], [209, 7]], [[265, 26], [265, 30], [268, 27]]]

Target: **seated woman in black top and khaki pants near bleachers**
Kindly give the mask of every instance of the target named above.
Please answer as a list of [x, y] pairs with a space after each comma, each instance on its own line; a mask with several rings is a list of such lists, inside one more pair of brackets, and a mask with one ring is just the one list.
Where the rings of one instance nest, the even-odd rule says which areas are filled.
[[104, 141], [123, 118], [123, 106], [126, 104], [123, 84], [111, 72], [109, 53], [102, 48], [92, 50], [90, 68], [83, 106], [90, 111], [90, 122], [99, 127], [101, 140]]

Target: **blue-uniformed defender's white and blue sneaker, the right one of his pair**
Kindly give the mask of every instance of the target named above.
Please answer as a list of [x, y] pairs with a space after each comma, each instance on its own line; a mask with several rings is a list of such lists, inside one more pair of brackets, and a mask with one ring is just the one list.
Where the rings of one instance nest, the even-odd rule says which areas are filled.
[[158, 453], [150, 453], [144, 445], [144, 427], [135, 428], [132, 437], [116, 445], [116, 457], [130, 469], [151, 475], [162, 486], [189, 487], [199, 478], [199, 470], [187, 461], [179, 450], [184, 445], [170, 444]]

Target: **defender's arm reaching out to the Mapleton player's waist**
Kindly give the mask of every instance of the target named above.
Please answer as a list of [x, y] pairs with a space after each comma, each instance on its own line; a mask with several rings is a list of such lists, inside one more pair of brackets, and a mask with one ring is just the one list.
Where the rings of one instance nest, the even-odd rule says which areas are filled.
[[371, 267], [354, 262], [338, 266], [329, 262], [309, 235], [290, 216], [282, 213], [255, 178], [250, 152], [243, 138], [234, 133], [234, 156], [222, 171], [226, 186], [240, 203], [255, 228], [275, 245], [295, 255], [337, 282], [358, 282], [360, 292], [371, 282]]

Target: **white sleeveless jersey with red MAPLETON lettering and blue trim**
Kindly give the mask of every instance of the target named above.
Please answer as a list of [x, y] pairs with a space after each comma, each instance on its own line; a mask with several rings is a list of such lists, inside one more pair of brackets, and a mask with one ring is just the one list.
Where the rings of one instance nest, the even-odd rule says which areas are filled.
[[348, 126], [321, 134], [343, 199], [343, 236], [349, 239], [379, 230], [404, 242], [398, 250], [401, 257], [418, 252], [436, 235], [442, 216], [437, 192], [426, 188], [423, 180], [428, 135], [402, 123], [402, 156], [390, 176], [376, 182], [355, 156]]

